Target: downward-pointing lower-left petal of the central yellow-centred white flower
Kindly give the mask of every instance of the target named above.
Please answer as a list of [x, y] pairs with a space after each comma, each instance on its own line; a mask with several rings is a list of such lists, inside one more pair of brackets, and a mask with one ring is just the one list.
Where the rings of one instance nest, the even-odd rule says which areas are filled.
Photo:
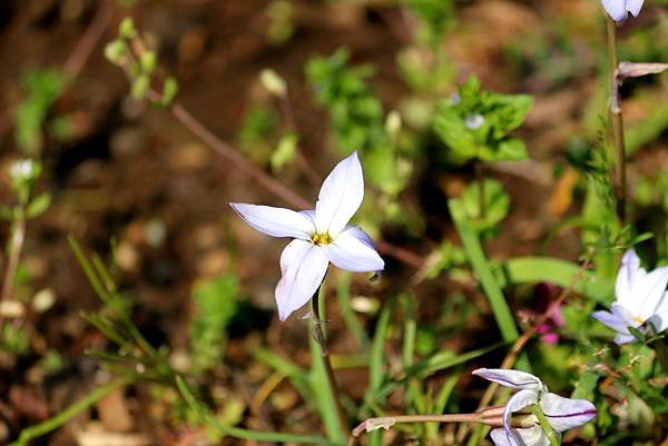
[[281, 255], [283, 276], [276, 285], [278, 317], [285, 320], [303, 307], [321, 286], [328, 260], [321, 247], [304, 240], [291, 241]]

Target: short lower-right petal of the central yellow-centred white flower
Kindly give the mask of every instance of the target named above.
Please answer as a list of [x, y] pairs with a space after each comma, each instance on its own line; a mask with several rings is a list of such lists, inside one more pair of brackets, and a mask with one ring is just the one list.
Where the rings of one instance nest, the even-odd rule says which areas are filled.
[[356, 227], [348, 227], [323, 249], [332, 264], [347, 271], [382, 271], [385, 268], [371, 238]]

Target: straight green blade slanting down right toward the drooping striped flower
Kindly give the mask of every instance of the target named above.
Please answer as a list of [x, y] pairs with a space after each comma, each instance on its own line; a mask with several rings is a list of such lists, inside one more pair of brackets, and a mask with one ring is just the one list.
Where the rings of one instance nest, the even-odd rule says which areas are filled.
[[[503, 337], [503, 340], [511, 343], [515, 340], [520, 334], [518, 331], [518, 327], [515, 326], [512, 313], [508, 307], [508, 303], [503, 297], [501, 287], [499, 286], [499, 283], [492, 272], [492, 268], [490, 267], [490, 264], [484, 255], [482, 245], [478, 238], [478, 234], [469, 225], [464, 206], [461, 200], [451, 199], [448, 201], [448, 206], [450, 208], [450, 215], [454, 220], [454, 226], [456, 227], [460, 238], [462, 239], [464, 250], [469, 256], [469, 260], [471, 261], [473, 269], [478, 274], [480, 285], [482, 286], [484, 295], [492, 307], [492, 313], [497, 324], [499, 325], [501, 336]], [[527, 356], [524, 355], [520, 356], [517, 361], [517, 366], [521, 370], [531, 370], [529, 359], [527, 359]]]

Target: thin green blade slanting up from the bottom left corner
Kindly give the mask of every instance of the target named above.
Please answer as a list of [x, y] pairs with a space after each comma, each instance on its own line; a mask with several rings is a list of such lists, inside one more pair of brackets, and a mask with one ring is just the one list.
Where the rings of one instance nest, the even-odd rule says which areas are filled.
[[77, 415], [79, 415], [80, 413], [82, 413], [84, 410], [86, 410], [107, 395], [134, 383], [136, 377], [130, 376], [115, 379], [102, 387], [98, 387], [90, 394], [86, 395], [84, 398], [73, 403], [65, 410], [60, 412], [58, 415], [21, 430], [21, 434], [19, 434], [19, 438], [9, 446], [26, 446], [32, 439], [46, 435], [52, 430], [56, 430], [57, 428], [59, 428], [60, 426], [69, 422], [71, 418], [76, 417]]

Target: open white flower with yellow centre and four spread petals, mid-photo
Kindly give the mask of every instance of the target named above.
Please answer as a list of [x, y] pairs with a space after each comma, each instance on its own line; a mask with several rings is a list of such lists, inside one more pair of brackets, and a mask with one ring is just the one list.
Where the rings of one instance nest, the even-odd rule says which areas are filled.
[[282, 277], [276, 286], [281, 320], [313, 297], [330, 262], [348, 271], [383, 270], [385, 262], [369, 235], [347, 225], [363, 198], [362, 166], [357, 152], [353, 152], [325, 178], [315, 210], [297, 212], [269, 206], [230, 204], [239, 217], [258, 231], [272, 237], [294, 238], [281, 255]]

